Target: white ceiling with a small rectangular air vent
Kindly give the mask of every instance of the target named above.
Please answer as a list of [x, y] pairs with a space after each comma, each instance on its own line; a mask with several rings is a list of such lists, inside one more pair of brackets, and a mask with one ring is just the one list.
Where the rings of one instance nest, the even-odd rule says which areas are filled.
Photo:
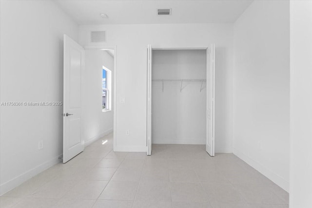
[[[79, 24], [231, 23], [253, 0], [55, 0]], [[157, 16], [158, 8], [171, 8]], [[105, 13], [108, 19], [100, 17]]]

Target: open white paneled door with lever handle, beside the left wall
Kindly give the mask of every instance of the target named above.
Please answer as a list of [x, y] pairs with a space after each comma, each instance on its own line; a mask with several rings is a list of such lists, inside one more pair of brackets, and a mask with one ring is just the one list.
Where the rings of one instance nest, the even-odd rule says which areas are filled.
[[81, 137], [81, 72], [84, 58], [84, 49], [64, 35], [63, 163], [84, 149]]

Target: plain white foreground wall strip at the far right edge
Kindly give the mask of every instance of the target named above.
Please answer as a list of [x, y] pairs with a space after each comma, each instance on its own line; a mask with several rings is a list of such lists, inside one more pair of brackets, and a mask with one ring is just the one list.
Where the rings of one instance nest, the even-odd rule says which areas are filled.
[[291, 1], [290, 208], [312, 207], [312, 1]]

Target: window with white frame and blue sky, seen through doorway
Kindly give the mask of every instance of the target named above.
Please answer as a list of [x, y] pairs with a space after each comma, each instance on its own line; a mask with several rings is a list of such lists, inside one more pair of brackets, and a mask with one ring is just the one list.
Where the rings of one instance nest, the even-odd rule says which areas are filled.
[[111, 79], [112, 72], [103, 66], [102, 69], [102, 111], [111, 110]]

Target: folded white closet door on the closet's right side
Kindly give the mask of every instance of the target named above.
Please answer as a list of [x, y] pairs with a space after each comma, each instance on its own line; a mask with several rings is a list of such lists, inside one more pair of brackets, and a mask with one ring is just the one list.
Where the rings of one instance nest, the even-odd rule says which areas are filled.
[[207, 49], [206, 151], [215, 156], [215, 44]]

